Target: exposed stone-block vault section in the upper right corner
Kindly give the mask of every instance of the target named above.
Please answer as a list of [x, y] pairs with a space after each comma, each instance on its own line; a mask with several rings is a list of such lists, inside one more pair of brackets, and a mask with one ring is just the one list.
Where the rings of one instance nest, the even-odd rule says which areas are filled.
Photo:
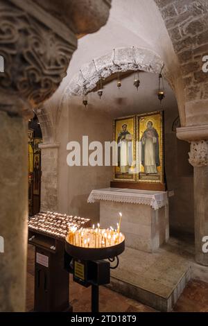
[[155, 0], [180, 60], [186, 100], [208, 98], [208, 74], [202, 57], [208, 55], [208, 1]]

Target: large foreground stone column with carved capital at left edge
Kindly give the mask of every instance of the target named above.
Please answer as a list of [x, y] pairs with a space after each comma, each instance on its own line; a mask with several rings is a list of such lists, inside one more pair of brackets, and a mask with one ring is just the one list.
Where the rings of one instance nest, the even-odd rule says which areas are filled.
[[107, 21], [110, 0], [88, 2], [0, 0], [0, 311], [25, 309], [28, 117], [66, 76], [75, 34]]

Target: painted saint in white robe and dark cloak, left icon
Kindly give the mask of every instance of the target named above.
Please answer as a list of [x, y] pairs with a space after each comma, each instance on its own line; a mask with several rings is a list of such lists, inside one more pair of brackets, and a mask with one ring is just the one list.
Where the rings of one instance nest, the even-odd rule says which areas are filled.
[[127, 124], [124, 123], [122, 131], [119, 132], [118, 144], [118, 166], [121, 173], [128, 173], [132, 165], [132, 135], [127, 130]]

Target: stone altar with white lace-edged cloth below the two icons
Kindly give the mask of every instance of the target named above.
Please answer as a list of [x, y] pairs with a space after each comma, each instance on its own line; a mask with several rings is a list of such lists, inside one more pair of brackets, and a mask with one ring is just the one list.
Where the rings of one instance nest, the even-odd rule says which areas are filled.
[[169, 239], [168, 196], [166, 191], [105, 188], [92, 190], [88, 203], [100, 202], [100, 224], [114, 225], [122, 213], [121, 232], [126, 246], [155, 252]]

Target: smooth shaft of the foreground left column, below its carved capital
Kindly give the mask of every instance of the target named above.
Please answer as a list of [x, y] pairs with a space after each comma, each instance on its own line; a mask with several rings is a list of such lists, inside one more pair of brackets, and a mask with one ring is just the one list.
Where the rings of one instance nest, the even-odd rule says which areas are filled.
[[[0, 311], [24, 311], [28, 218], [27, 126], [0, 110]], [[20, 296], [21, 295], [21, 296]]]

